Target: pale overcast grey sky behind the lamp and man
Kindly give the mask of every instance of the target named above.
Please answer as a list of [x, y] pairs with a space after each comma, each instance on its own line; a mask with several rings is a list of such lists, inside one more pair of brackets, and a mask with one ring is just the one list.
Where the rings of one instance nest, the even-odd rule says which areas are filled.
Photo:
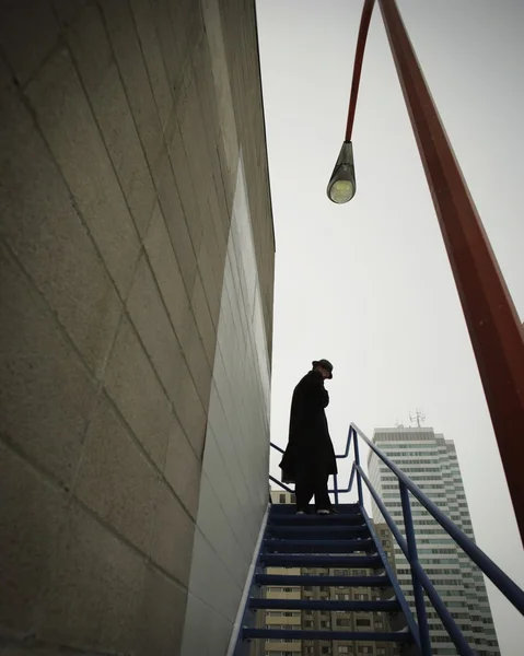
[[[524, 320], [524, 3], [404, 0], [400, 11]], [[353, 130], [356, 198], [325, 195], [343, 139], [361, 2], [258, 0], [277, 237], [272, 440], [314, 358], [335, 365], [340, 448], [409, 411], [456, 443], [478, 543], [524, 586], [491, 422], [379, 8]], [[277, 460], [272, 470], [277, 472]], [[503, 656], [524, 621], [489, 587]]]

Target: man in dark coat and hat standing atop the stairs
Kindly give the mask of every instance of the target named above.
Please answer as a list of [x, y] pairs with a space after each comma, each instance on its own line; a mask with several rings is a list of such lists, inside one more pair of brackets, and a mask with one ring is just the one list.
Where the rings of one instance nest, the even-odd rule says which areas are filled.
[[291, 401], [289, 443], [280, 468], [282, 478], [295, 483], [300, 514], [307, 512], [313, 495], [318, 514], [335, 512], [327, 493], [327, 481], [329, 475], [337, 473], [337, 461], [324, 410], [329, 403], [326, 378], [333, 378], [333, 364], [315, 360], [312, 371], [294, 388]]

